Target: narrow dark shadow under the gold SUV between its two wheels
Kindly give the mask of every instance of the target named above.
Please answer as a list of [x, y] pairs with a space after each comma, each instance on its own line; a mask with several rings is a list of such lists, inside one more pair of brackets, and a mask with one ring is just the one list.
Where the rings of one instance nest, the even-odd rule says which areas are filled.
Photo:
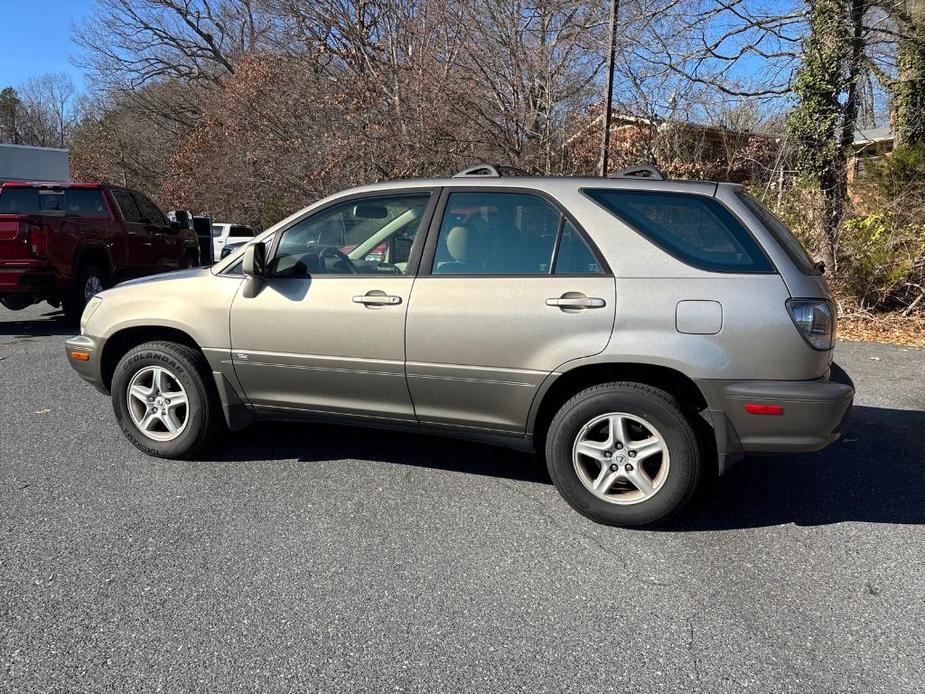
[[550, 484], [536, 456], [427, 434], [334, 424], [261, 422], [207, 454], [210, 461], [368, 460]]

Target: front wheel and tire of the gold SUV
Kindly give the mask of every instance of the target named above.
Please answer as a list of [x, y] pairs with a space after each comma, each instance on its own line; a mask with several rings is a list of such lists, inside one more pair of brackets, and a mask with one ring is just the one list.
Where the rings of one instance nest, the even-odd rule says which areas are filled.
[[128, 440], [158, 458], [195, 457], [225, 423], [205, 357], [174, 342], [127, 352], [113, 375], [112, 403]]

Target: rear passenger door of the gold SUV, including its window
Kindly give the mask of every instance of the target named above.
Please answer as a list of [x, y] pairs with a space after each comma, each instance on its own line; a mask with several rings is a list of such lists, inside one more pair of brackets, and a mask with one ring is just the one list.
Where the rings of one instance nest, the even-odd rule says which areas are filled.
[[523, 189], [447, 188], [407, 322], [421, 422], [523, 431], [537, 388], [601, 352], [615, 283], [574, 219]]

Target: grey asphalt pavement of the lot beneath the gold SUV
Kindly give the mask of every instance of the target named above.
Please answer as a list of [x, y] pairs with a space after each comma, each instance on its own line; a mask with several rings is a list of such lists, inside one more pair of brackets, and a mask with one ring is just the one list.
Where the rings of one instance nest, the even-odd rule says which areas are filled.
[[57, 316], [0, 308], [0, 692], [925, 690], [925, 350], [840, 343], [841, 441], [640, 531], [433, 437], [148, 458]]

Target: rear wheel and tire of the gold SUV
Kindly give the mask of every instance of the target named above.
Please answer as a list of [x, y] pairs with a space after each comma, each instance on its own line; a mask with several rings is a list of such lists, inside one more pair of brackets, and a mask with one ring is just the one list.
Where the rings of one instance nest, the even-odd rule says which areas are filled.
[[677, 400], [634, 382], [596, 385], [566, 402], [549, 426], [546, 464], [572, 508], [627, 527], [671, 518], [694, 495], [704, 468]]

